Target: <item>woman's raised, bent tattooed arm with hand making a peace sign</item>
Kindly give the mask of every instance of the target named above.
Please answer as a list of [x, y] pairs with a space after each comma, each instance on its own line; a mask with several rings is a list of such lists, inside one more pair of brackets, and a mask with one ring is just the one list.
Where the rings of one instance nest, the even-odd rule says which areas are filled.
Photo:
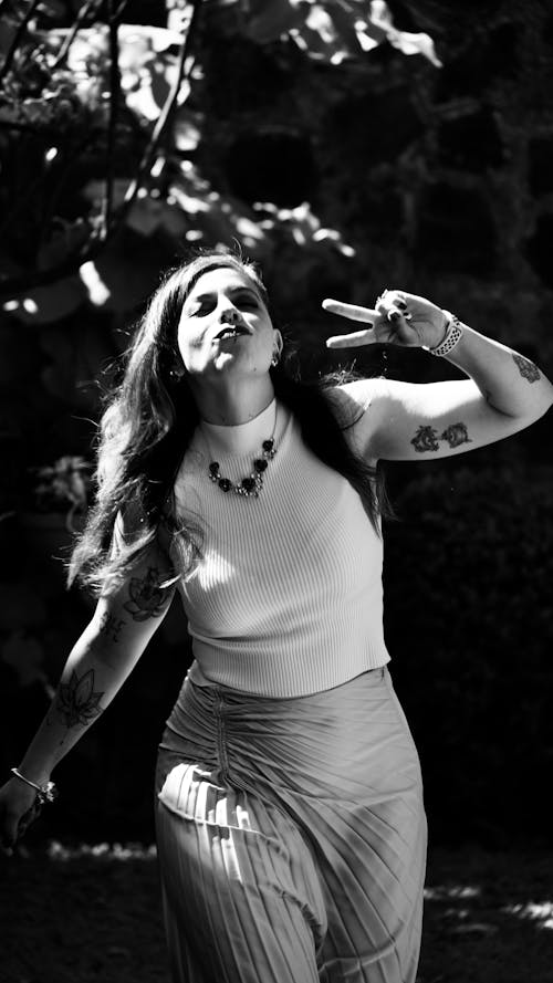
[[368, 323], [328, 347], [390, 342], [436, 349], [469, 378], [413, 384], [366, 379], [340, 387], [342, 401], [363, 410], [355, 430], [359, 452], [372, 459], [449, 457], [502, 440], [530, 426], [553, 402], [553, 386], [528, 358], [467, 325], [453, 324], [440, 345], [448, 315], [430, 301], [389, 291], [376, 310], [325, 301], [326, 310]]

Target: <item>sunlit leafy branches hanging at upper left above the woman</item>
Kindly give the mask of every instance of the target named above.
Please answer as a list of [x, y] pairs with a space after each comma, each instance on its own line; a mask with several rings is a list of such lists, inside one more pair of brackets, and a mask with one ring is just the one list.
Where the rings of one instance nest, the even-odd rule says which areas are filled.
[[[263, 252], [270, 229], [215, 191], [191, 159], [205, 125], [204, 70], [187, 49], [192, 29], [209, 33], [215, 22], [223, 35], [260, 46], [294, 43], [331, 65], [363, 63], [383, 42], [439, 65], [428, 35], [398, 31], [382, 0], [210, 0], [201, 17], [199, 2], [168, 7], [165, 29], [122, 23], [117, 12], [106, 19], [100, 2], [81, 8], [74, 24], [58, 2], [8, 4], [0, 28], [0, 289], [11, 292], [10, 311], [24, 316], [15, 299], [24, 287], [93, 262], [122, 222], [146, 236], [163, 224], [176, 247], [238, 239]], [[190, 109], [198, 97], [200, 109]], [[101, 306], [107, 295], [96, 292], [93, 302]]]

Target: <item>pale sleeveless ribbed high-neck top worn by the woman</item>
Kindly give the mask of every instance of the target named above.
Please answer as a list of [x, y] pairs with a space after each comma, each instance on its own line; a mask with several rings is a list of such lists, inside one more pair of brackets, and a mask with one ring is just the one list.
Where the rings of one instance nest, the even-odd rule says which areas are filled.
[[[273, 432], [259, 498], [210, 481], [213, 460], [233, 481], [248, 475]], [[204, 532], [202, 560], [179, 583], [195, 682], [300, 697], [389, 661], [382, 540], [357, 492], [304, 445], [282, 404], [237, 427], [202, 422], [175, 494]]]

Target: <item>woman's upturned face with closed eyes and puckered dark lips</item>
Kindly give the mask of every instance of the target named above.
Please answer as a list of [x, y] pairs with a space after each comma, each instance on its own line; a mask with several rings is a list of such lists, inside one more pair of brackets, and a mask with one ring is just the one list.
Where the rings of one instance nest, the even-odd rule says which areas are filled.
[[282, 337], [253, 281], [226, 266], [195, 283], [182, 305], [177, 343], [187, 373], [199, 381], [227, 372], [259, 378], [281, 351]]

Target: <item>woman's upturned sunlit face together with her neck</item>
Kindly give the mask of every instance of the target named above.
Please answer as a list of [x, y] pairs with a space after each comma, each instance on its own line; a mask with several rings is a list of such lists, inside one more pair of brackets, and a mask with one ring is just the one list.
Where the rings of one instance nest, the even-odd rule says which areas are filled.
[[[240, 334], [218, 338], [226, 325]], [[282, 336], [246, 273], [231, 269], [204, 273], [182, 306], [177, 342], [207, 422], [246, 423], [272, 401], [269, 368], [282, 349]]]

